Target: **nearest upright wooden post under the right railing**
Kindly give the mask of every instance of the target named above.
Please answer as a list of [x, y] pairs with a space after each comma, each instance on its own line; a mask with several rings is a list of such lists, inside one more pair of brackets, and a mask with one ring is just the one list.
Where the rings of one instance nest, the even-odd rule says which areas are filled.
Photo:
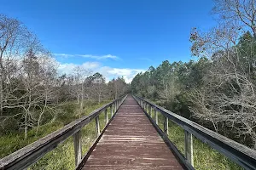
[[193, 137], [192, 134], [184, 130], [185, 133], [185, 158], [194, 167], [194, 157], [193, 157]]

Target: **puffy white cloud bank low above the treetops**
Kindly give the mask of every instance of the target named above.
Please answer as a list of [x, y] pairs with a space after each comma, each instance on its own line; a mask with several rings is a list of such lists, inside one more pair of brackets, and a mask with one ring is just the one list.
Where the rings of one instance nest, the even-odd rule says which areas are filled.
[[73, 69], [76, 66], [81, 66], [85, 70], [90, 70], [93, 73], [99, 72], [101, 73], [104, 77], [106, 77], [106, 81], [110, 81], [113, 78], [117, 77], [124, 77], [125, 82], [131, 82], [133, 77], [137, 75], [139, 72], [144, 72], [143, 69], [130, 69], [130, 68], [112, 68], [109, 66], [102, 66], [98, 62], [85, 62], [81, 65], [76, 65], [73, 63], [59, 63], [59, 68], [58, 71], [61, 74], [72, 74]]

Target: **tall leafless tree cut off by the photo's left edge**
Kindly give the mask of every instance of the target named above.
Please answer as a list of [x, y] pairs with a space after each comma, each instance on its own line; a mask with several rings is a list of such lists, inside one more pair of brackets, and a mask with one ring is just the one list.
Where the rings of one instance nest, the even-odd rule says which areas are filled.
[[3, 116], [3, 105], [6, 104], [6, 83], [9, 74], [13, 73], [13, 61], [23, 54], [26, 37], [29, 32], [19, 20], [0, 14], [0, 116]]

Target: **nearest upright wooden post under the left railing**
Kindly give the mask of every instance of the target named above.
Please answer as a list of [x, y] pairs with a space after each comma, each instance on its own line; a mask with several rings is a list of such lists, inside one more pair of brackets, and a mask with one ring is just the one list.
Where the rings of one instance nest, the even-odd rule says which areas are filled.
[[75, 165], [79, 165], [82, 160], [82, 141], [81, 141], [81, 131], [73, 134], [73, 146], [75, 152]]

